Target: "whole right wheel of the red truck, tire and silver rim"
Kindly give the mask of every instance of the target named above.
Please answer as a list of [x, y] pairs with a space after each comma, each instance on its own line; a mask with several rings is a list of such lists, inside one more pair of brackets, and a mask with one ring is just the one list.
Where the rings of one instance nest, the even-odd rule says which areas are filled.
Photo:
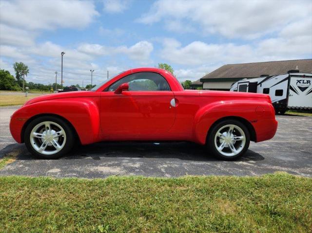
[[235, 160], [248, 149], [250, 134], [247, 127], [236, 120], [225, 120], [213, 126], [207, 146], [220, 160]]

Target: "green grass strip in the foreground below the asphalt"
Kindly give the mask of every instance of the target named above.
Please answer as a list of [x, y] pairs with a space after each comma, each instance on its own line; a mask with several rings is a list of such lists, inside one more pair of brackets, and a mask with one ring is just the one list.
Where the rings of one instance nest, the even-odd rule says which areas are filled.
[[2, 232], [311, 232], [312, 179], [0, 177]]

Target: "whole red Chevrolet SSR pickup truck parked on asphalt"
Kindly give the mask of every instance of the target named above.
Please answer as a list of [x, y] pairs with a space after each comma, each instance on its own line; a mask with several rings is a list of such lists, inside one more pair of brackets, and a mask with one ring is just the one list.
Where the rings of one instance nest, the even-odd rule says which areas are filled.
[[91, 91], [39, 96], [11, 117], [10, 130], [35, 156], [56, 159], [76, 142], [190, 141], [218, 159], [243, 155], [277, 128], [269, 95], [184, 90], [170, 72], [138, 68]]

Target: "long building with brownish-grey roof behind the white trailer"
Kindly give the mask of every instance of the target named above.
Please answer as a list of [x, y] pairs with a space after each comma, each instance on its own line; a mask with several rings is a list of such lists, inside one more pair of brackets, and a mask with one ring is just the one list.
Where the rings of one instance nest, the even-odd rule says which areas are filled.
[[312, 59], [224, 65], [193, 82], [191, 86], [202, 87], [203, 90], [230, 90], [234, 82], [243, 78], [282, 74], [290, 70], [312, 73]]

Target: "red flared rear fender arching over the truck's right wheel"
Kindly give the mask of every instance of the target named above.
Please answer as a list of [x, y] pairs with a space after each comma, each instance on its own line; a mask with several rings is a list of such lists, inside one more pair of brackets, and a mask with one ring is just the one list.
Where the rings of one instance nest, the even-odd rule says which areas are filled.
[[[258, 109], [261, 109], [259, 111]], [[194, 118], [193, 138], [200, 144], [206, 143], [210, 127], [224, 117], [238, 117], [250, 122], [253, 127], [259, 119], [272, 118], [272, 107], [267, 102], [218, 101], [200, 108]]]

